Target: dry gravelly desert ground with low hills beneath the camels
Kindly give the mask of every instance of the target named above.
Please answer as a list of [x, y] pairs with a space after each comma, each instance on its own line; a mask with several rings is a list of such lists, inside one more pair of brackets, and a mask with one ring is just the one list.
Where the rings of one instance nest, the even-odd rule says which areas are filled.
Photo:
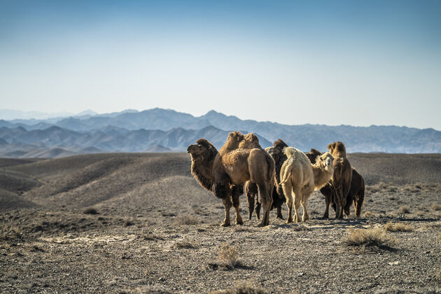
[[441, 293], [441, 155], [348, 158], [361, 218], [314, 192], [311, 220], [265, 228], [245, 196], [220, 227], [186, 153], [0, 159], [0, 292]]

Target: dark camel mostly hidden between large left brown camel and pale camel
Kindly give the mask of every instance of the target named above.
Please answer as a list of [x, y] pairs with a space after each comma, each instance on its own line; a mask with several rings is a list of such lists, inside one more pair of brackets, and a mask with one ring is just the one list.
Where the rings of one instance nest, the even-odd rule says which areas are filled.
[[[281, 206], [286, 202], [285, 195], [283, 195], [283, 190], [280, 183], [280, 169], [283, 165], [283, 162], [286, 160], [286, 155], [283, 154], [283, 148], [288, 147], [283, 140], [279, 139], [274, 141], [272, 147], [265, 148], [265, 151], [271, 155], [272, 159], [276, 164], [276, 181], [274, 188], [272, 190], [272, 205], [271, 209], [276, 208], [277, 214], [276, 218], [280, 218], [283, 220], [283, 216], [281, 214]], [[248, 200], [248, 218], [251, 220], [251, 216], [253, 216], [254, 211], [254, 203], [255, 203], [255, 216], [257, 219], [260, 219], [260, 203], [258, 201], [255, 202], [255, 197], [258, 195], [258, 188], [255, 186], [255, 183], [246, 182], [245, 183], [245, 195]]]

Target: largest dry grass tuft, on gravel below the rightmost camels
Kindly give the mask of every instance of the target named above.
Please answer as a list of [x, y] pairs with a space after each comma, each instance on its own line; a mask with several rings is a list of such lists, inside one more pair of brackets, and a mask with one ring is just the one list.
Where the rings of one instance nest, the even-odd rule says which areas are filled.
[[377, 246], [381, 248], [390, 247], [394, 241], [382, 228], [350, 229], [346, 244], [349, 246]]

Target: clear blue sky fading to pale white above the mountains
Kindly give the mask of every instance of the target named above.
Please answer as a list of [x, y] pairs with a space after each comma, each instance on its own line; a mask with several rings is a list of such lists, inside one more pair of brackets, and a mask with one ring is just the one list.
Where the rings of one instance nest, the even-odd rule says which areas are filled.
[[4, 1], [0, 109], [441, 130], [441, 1]]

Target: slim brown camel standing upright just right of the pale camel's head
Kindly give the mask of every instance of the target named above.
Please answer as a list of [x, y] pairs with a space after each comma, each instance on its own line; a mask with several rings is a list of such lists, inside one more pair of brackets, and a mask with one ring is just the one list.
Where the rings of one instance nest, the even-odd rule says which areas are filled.
[[[346, 207], [346, 198], [352, 181], [352, 167], [346, 158], [346, 147], [340, 141], [333, 142], [328, 145], [328, 151], [334, 156], [334, 176], [332, 177], [331, 186], [333, 202], [335, 204], [335, 218], [342, 218], [343, 211]], [[329, 216], [330, 200], [326, 199], [326, 209], [323, 217]]]

